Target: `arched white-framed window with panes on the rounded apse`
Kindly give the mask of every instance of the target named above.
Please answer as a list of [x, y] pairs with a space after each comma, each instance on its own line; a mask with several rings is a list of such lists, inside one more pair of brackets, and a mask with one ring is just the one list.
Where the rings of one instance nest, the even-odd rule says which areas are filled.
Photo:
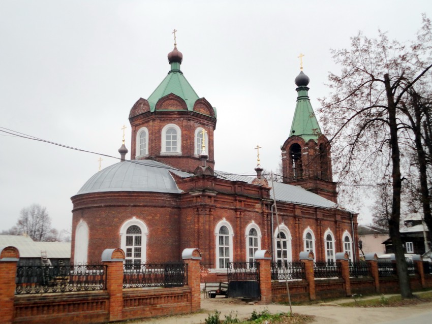
[[126, 254], [126, 265], [140, 265], [146, 261], [147, 226], [142, 220], [132, 218], [121, 225], [120, 247]]

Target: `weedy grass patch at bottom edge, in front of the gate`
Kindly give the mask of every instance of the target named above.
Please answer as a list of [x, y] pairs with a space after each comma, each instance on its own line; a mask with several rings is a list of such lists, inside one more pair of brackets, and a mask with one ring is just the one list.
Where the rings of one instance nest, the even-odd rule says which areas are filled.
[[314, 316], [310, 315], [291, 315], [290, 313], [271, 314], [267, 309], [264, 309], [260, 313], [254, 310], [251, 317], [244, 320], [238, 319], [237, 313], [225, 315], [225, 319], [221, 319], [220, 314], [221, 312], [217, 310], [213, 314], [208, 314], [205, 324], [303, 324], [311, 322], [314, 319]]

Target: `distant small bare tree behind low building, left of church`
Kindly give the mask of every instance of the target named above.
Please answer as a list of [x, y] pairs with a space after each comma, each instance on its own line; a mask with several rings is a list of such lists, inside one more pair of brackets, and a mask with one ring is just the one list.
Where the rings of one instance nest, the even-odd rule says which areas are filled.
[[57, 231], [51, 227], [51, 218], [41, 205], [33, 204], [21, 209], [16, 228], [19, 234], [26, 234], [34, 241], [58, 241]]

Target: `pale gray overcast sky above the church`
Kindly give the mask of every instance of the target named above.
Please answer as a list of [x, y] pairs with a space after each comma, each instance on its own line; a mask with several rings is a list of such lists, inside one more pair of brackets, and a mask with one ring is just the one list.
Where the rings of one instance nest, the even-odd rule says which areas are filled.
[[[129, 110], [169, 71], [172, 30], [181, 70], [218, 110], [217, 170], [275, 170], [294, 114], [299, 53], [310, 98], [328, 94], [330, 49], [362, 30], [413, 39], [427, 1], [19, 1], [0, 2], [0, 126], [119, 156]], [[70, 228], [74, 196], [99, 155], [0, 134], [0, 230], [32, 203]], [[127, 155], [129, 158], [130, 155]], [[103, 157], [102, 167], [116, 163]], [[350, 206], [347, 206], [350, 207]], [[369, 223], [368, 208], [360, 212]]]

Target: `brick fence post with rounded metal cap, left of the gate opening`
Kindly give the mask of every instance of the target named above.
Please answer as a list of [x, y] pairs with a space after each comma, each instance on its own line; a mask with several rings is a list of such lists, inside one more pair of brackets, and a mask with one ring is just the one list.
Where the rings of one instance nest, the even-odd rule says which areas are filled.
[[188, 265], [188, 285], [191, 287], [191, 312], [201, 309], [201, 252], [197, 248], [184, 249], [181, 258]]

